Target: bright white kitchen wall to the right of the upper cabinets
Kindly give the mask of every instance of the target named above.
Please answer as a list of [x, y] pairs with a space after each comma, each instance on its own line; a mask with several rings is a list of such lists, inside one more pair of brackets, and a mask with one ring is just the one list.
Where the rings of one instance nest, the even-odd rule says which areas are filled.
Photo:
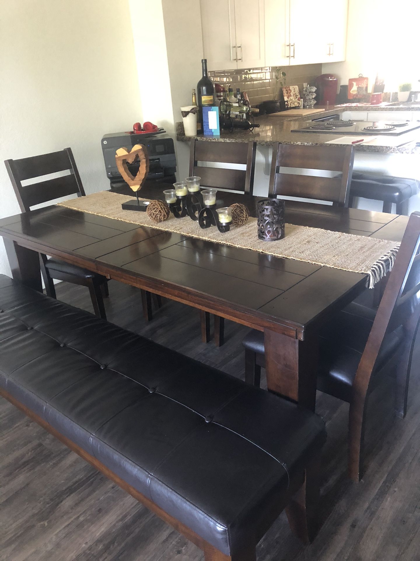
[[323, 73], [334, 74], [343, 85], [361, 73], [372, 91], [379, 72], [385, 91], [408, 81], [418, 89], [419, 21], [419, 0], [349, 0], [346, 62], [326, 63]]

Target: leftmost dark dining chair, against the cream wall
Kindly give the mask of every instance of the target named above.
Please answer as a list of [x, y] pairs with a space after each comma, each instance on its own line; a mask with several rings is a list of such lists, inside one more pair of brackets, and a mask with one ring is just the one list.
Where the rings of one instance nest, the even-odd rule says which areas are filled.
[[[22, 212], [29, 212], [32, 206], [60, 197], [85, 195], [71, 148], [18, 160], [10, 159], [4, 164]], [[69, 173], [62, 177], [43, 178], [30, 185], [22, 185], [22, 181], [63, 171]], [[44, 254], [40, 254], [40, 267], [48, 296], [57, 297], [53, 279], [86, 286], [90, 292], [95, 314], [106, 319], [103, 297], [108, 296], [109, 292], [108, 280], [104, 276], [54, 257], [48, 259]]]

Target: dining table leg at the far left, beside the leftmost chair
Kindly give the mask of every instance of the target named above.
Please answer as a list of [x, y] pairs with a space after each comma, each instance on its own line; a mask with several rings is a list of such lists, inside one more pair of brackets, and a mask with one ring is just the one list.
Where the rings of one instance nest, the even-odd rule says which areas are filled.
[[43, 286], [38, 251], [22, 247], [8, 238], [3, 238], [3, 241], [10, 268], [12, 269], [12, 277], [26, 284], [26, 286], [42, 292]]

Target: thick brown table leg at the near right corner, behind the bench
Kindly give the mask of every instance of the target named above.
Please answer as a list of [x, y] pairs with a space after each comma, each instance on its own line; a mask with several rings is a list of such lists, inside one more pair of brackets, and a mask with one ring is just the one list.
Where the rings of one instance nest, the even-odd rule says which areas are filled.
[[299, 341], [265, 329], [264, 347], [268, 389], [314, 411], [318, 335], [307, 332]]

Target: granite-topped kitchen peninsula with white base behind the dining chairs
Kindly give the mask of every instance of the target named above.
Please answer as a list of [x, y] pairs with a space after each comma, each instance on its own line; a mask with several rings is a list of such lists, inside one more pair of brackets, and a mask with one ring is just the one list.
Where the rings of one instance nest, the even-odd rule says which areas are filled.
[[[325, 109], [323, 113], [315, 113], [305, 117], [288, 117], [287, 111], [281, 114], [256, 117], [255, 122], [260, 125], [259, 128], [255, 128], [253, 131], [222, 131], [220, 137], [185, 136], [182, 123], [177, 123], [177, 140], [181, 143], [190, 142], [192, 138], [208, 142], [249, 142], [254, 140], [257, 145], [254, 194], [266, 196], [268, 193], [272, 145], [275, 142], [280, 142], [281, 144], [323, 145], [330, 140], [337, 140], [343, 137], [339, 129], [337, 134], [292, 132], [293, 129], [313, 124], [312, 119], [338, 114], [338, 118], [342, 119], [367, 121], [368, 116], [370, 117], [369, 120], [373, 120], [371, 115], [373, 112], [377, 113], [377, 121], [381, 121], [382, 115], [385, 114], [385, 118], [389, 119], [390, 113], [395, 114], [396, 121], [399, 119], [405, 120], [407, 117], [410, 117], [410, 120], [417, 121], [417, 113], [418, 119], [420, 119], [420, 105], [418, 104], [326, 107]], [[394, 177], [413, 177], [420, 180], [420, 146], [417, 146], [419, 142], [420, 127], [399, 136], [378, 134], [374, 140], [354, 145], [354, 171]], [[334, 143], [332, 146], [339, 145]], [[220, 167], [223, 166], [221, 165]], [[180, 175], [183, 175], [182, 169], [180, 169]], [[381, 210], [382, 208], [380, 201], [356, 199], [355, 202], [358, 208], [367, 210]], [[412, 197], [410, 200], [409, 212], [414, 210], [420, 210], [420, 196]]]

